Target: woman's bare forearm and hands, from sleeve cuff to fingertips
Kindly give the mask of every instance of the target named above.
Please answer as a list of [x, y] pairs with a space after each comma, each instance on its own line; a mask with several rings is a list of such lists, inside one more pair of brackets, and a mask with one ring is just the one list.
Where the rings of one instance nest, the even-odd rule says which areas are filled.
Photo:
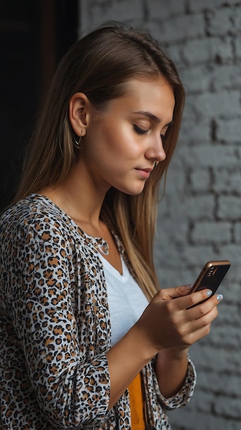
[[[163, 354], [166, 351], [175, 363], [180, 363], [180, 356], [186, 357], [188, 347], [208, 334], [210, 324], [218, 314], [216, 305], [220, 300], [215, 295], [198, 304], [208, 297], [207, 290], [189, 293], [187, 286], [159, 291], [136, 324], [107, 352], [111, 382], [109, 407], [116, 403], [136, 374], [158, 352]], [[198, 305], [188, 309], [194, 304]], [[187, 359], [181, 361], [185, 367], [181, 371], [183, 376]]]

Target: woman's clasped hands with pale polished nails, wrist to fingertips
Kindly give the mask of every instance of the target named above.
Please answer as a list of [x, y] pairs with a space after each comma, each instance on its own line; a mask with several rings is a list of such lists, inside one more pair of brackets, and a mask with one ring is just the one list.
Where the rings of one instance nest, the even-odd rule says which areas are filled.
[[150, 352], [151, 348], [156, 353], [166, 348], [188, 348], [207, 335], [223, 298], [214, 295], [199, 304], [209, 295], [207, 289], [190, 294], [188, 286], [158, 291], [136, 323]]

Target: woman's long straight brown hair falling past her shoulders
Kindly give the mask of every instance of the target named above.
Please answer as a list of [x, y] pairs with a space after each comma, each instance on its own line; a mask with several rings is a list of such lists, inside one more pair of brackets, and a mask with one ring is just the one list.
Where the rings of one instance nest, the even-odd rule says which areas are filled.
[[149, 298], [159, 288], [153, 265], [158, 188], [175, 150], [185, 99], [173, 61], [149, 34], [121, 23], [108, 23], [69, 49], [53, 78], [15, 197], [18, 201], [47, 185], [61, 183], [77, 162], [79, 152], [68, 118], [73, 94], [85, 93], [101, 112], [110, 100], [125, 93], [127, 80], [160, 76], [175, 95], [174, 124], [168, 128], [164, 142], [166, 159], [158, 163], [141, 194], [129, 196], [111, 188], [101, 210], [101, 217], [123, 241], [134, 275]]

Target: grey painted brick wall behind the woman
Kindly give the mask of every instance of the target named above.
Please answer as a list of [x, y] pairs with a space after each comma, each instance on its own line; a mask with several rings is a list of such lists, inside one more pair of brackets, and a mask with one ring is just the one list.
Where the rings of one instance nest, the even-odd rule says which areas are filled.
[[149, 30], [186, 87], [179, 146], [160, 201], [155, 263], [163, 287], [229, 259], [210, 335], [190, 354], [198, 380], [173, 430], [241, 429], [241, 2], [79, 0], [80, 32], [107, 19]]

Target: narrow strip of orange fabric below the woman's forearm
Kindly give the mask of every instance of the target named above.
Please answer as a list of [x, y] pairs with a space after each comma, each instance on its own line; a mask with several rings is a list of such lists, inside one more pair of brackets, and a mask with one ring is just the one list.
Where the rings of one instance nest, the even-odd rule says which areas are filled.
[[128, 387], [131, 404], [131, 430], [144, 430], [144, 400], [142, 396], [142, 378], [139, 373]]

